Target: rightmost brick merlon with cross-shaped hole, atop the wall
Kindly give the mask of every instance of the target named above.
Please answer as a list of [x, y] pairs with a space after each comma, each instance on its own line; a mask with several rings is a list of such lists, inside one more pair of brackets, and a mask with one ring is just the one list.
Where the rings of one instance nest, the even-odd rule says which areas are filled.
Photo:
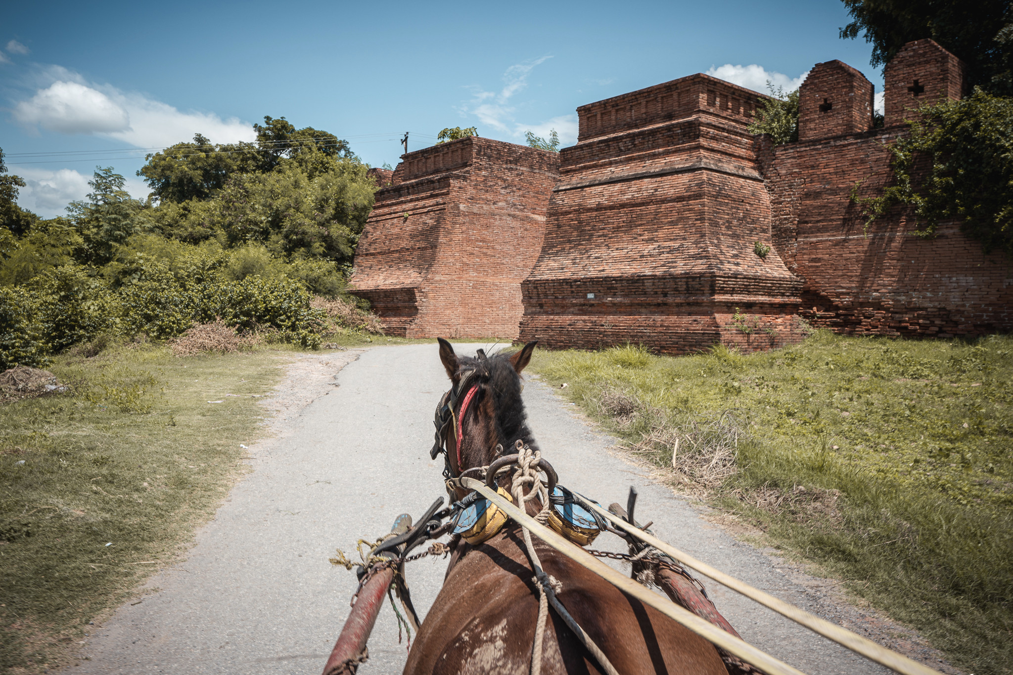
[[905, 45], [883, 69], [886, 126], [903, 124], [921, 105], [967, 93], [966, 67], [931, 39]]

